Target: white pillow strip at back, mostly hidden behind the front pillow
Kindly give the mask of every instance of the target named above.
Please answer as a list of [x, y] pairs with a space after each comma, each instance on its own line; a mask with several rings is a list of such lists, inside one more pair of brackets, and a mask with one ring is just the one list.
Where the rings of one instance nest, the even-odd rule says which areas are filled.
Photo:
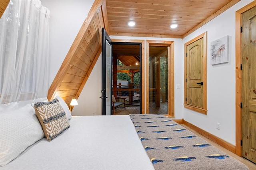
[[[26, 101], [18, 101], [18, 102], [11, 102], [7, 104], [0, 104], [0, 113], [6, 113], [9, 111], [13, 111], [16, 109], [19, 109], [27, 104], [35, 103], [35, 102], [48, 102], [47, 98], [36, 98], [32, 100], [26, 100]], [[33, 106], [33, 105], [32, 105]]]

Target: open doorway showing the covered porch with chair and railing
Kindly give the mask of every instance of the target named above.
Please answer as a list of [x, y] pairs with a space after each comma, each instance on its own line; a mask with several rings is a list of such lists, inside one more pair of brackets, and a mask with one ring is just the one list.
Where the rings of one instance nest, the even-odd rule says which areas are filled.
[[141, 114], [141, 43], [113, 42], [113, 114]]

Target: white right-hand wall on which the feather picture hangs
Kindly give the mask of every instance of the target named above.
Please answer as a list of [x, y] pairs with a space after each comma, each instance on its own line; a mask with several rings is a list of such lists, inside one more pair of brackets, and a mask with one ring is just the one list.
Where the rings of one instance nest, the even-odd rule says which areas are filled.
[[[184, 109], [184, 120], [228, 141], [236, 144], [236, 53], [235, 53], [235, 12], [246, 6], [252, 0], [241, 0], [223, 14], [206, 23], [200, 29], [184, 38], [184, 43], [207, 31], [207, 103], [208, 113], [203, 115], [189, 109]], [[228, 63], [211, 65], [210, 42], [231, 36], [231, 55]], [[220, 123], [220, 130], [216, 123]]]

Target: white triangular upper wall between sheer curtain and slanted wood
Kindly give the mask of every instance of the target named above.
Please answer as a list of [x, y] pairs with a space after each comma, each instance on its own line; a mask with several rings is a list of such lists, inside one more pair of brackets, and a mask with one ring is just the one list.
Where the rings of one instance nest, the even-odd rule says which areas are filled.
[[94, 0], [41, 0], [41, 2], [50, 10], [50, 87]]

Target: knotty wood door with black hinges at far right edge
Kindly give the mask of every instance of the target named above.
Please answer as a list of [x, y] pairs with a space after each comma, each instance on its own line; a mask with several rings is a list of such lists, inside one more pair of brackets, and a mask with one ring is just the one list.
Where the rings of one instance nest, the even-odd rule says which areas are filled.
[[256, 163], [256, 7], [242, 14], [242, 156]]

